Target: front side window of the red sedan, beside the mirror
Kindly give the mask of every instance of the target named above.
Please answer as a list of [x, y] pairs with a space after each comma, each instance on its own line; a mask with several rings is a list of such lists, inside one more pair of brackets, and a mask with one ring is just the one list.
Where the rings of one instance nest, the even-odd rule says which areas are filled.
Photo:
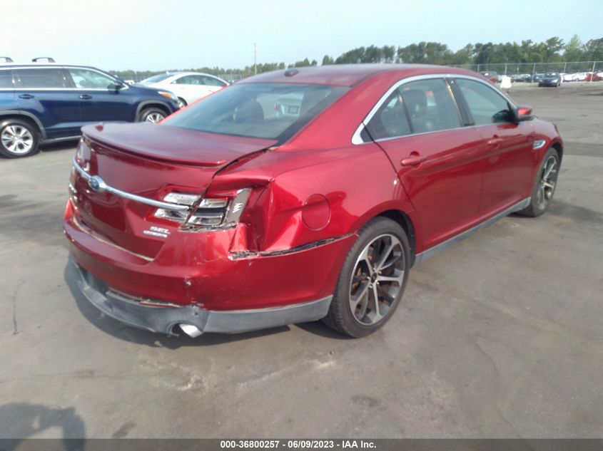
[[492, 125], [513, 121], [509, 102], [490, 86], [466, 78], [457, 78], [456, 82], [475, 125]]

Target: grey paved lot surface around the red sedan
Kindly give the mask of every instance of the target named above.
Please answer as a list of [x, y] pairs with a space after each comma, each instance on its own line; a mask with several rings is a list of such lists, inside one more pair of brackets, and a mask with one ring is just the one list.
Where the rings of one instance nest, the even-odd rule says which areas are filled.
[[362, 340], [123, 326], [64, 281], [74, 144], [0, 160], [0, 438], [601, 437], [603, 83], [511, 95], [565, 140], [551, 210], [415, 266]]

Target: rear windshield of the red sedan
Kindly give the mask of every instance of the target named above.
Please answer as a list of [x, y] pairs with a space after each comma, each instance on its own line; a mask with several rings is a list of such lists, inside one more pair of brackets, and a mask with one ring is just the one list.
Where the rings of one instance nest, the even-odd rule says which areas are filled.
[[164, 124], [284, 142], [348, 89], [328, 85], [243, 83], [189, 106]]

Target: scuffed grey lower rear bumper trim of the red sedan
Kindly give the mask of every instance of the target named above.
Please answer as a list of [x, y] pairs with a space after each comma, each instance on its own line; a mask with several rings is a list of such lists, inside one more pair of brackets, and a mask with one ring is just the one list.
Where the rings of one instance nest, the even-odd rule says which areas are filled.
[[199, 332], [239, 333], [324, 318], [333, 296], [273, 309], [211, 311], [198, 306], [147, 306], [111, 290], [105, 282], [93, 276], [69, 259], [67, 282], [108, 316], [123, 323], [152, 332], [177, 335], [174, 326], [195, 326]]

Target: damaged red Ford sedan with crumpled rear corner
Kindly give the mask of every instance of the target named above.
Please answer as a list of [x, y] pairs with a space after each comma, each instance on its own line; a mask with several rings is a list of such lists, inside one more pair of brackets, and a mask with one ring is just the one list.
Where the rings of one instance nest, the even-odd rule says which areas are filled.
[[[277, 115], [293, 95], [299, 113]], [[264, 73], [160, 125], [83, 128], [66, 277], [149, 331], [322, 318], [366, 336], [414, 264], [512, 212], [546, 212], [562, 152], [554, 125], [460, 68]]]

